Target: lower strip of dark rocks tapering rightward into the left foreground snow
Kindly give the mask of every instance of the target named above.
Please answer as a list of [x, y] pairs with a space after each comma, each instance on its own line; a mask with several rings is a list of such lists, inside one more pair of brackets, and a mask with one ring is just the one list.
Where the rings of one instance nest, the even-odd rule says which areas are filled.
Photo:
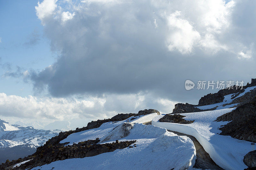
[[47, 148], [44, 148], [44, 150], [37, 151], [33, 155], [30, 155], [24, 159], [9, 162], [7, 161], [5, 164], [0, 165], [0, 169], [14, 169], [12, 168], [13, 165], [26, 160], [30, 161], [21, 164], [15, 169], [31, 169], [32, 167], [42, 166], [57, 160], [84, 158], [99, 155], [101, 153], [113, 152], [116, 149], [124, 149], [136, 142], [136, 140], [124, 142], [119, 142], [117, 140], [113, 143], [97, 144], [99, 141], [99, 138], [97, 138], [95, 140], [87, 140], [68, 146], [64, 146], [65, 144], [57, 144], [50, 147], [48, 146]]

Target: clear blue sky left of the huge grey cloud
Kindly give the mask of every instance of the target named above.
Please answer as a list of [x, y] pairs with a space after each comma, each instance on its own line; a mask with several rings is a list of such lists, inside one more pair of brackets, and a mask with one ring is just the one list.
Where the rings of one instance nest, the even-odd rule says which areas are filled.
[[[37, 1], [0, 1], [0, 74], [19, 66], [22, 70], [44, 69], [54, 61], [50, 41], [44, 36], [41, 21], [36, 16]], [[8, 95], [33, 94], [33, 86], [22, 78], [1, 77], [0, 89]]]

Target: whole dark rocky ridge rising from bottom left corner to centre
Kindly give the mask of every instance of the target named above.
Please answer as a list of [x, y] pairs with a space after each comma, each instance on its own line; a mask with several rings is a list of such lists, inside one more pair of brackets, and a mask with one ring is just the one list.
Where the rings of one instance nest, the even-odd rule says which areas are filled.
[[[90, 155], [89, 151], [92, 153], [100, 154], [100, 153], [104, 153], [104, 152], [112, 152], [116, 149], [123, 149], [125, 147], [128, 147], [130, 145], [130, 143], [133, 144], [135, 141], [117, 142], [116, 144], [88, 144], [88, 142], [92, 142], [89, 140], [89, 141], [85, 141], [85, 142], [80, 142], [79, 144], [73, 144], [74, 146], [72, 145], [72, 146], [66, 146], [66, 147], [64, 147], [65, 144], [60, 144], [60, 141], [67, 138], [69, 135], [71, 135], [73, 133], [81, 132], [81, 131], [88, 130], [88, 129], [98, 128], [105, 122], [123, 121], [132, 116], [148, 115], [151, 113], [160, 114], [160, 112], [158, 110], [145, 109], [145, 110], [140, 110], [138, 112], [138, 114], [135, 114], [135, 113], [118, 114], [118, 115], [113, 116], [110, 119], [89, 122], [87, 124], [87, 126], [83, 127], [83, 128], [76, 128], [76, 130], [60, 132], [58, 136], [52, 137], [51, 139], [46, 141], [46, 143], [43, 146], [39, 146], [36, 149], [36, 152], [34, 154], [29, 155], [28, 157], [25, 157], [23, 159], [20, 158], [20, 159], [12, 160], [12, 161], [7, 160], [5, 163], [2, 163], [2, 165], [0, 165], [0, 169], [13, 169], [13, 167], [12, 167], [13, 165], [23, 162], [23, 161], [26, 161], [26, 160], [30, 160], [30, 159], [33, 159], [33, 161], [31, 160], [29, 162], [26, 162], [26, 163], [22, 164], [19, 168], [26, 169], [28, 167], [40, 166], [40, 165], [46, 164], [48, 161], [69, 159], [69, 158], [73, 158], [74, 156], [75, 157], [78, 156], [77, 158], [80, 158], [82, 156], [86, 157], [86, 156]], [[95, 139], [95, 142], [99, 142], [98, 140], [99, 139]], [[88, 145], [90, 147], [88, 147]], [[92, 145], [95, 145], [95, 146], [92, 146]], [[89, 150], [84, 151], [83, 147], [87, 147], [87, 148], [89, 148]], [[53, 150], [51, 150], [51, 148]], [[65, 149], [63, 149], [63, 148], [65, 148]], [[81, 151], [81, 148], [82, 148], [83, 152]], [[106, 148], [108, 148], [108, 149], [106, 149]], [[59, 150], [63, 150], [65, 152], [62, 152], [62, 151], [60, 152]], [[74, 153], [74, 155], [71, 154], [72, 153], [71, 151], [73, 151], [73, 150], [77, 150], [77, 153], [76, 154]], [[48, 157], [44, 157], [44, 155], [48, 155]], [[55, 155], [55, 156], [51, 157], [49, 155]], [[57, 158], [57, 155], [58, 155], [58, 158]], [[60, 157], [60, 155], [61, 155], [61, 157]], [[94, 155], [92, 155], [92, 156], [94, 156]], [[43, 157], [45, 158], [45, 160], [41, 161], [41, 160], [43, 160]], [[17, 168], [15, 168], [15, 169], [17, 169]]]

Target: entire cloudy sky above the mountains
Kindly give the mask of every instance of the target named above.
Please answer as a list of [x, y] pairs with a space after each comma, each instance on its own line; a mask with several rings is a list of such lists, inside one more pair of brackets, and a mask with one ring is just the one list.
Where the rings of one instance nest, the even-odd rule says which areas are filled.
[[[0, 118], [77, 126], [256, 78], [256, 2], [0, 0]], [[191, 80], [195, 88], [185, 89]]]

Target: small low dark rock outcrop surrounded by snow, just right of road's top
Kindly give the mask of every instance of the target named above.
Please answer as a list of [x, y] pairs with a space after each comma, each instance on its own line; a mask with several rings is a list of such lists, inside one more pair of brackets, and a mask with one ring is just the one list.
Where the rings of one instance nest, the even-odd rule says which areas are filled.
[[183, 115], [175, 114], [175, 115], [164, 115], [161, 119], [159, 119], [159, 122], [171, 122], [171, 123], [180, 123], [180, 124], [190, 124], [194, 121], [187, 121], [183, 119]]

